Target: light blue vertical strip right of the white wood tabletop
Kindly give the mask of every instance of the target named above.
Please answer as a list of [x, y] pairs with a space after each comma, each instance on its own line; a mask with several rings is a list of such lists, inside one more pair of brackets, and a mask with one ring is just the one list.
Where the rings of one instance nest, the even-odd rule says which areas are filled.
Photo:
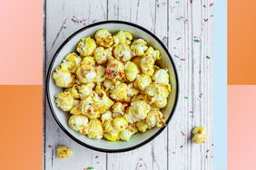
[[227, 170], [227, 1], [214, 1], [213, 16], [213, 161]]

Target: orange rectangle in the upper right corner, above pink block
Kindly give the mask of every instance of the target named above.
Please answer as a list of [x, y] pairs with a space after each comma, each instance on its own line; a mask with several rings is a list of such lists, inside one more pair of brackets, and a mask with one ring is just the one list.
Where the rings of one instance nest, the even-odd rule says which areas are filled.
[[256, 84], [256, 1], [229, 0], [228, 82]]

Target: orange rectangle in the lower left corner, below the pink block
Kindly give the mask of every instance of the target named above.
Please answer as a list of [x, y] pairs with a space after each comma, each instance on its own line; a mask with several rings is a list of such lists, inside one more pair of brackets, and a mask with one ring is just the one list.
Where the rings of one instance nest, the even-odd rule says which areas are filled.
[[0, 169], [42, 169], [42, 86], [0, 86]]

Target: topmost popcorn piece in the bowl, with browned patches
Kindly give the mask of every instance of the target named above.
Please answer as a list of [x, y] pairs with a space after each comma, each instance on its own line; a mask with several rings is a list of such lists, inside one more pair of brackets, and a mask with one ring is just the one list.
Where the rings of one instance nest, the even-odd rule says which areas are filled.
[[98, 45], [103, 47], [111, 47], [113, 45], [113, 37], [105, 29], [101, 29], [95, 33], [95, 39]]

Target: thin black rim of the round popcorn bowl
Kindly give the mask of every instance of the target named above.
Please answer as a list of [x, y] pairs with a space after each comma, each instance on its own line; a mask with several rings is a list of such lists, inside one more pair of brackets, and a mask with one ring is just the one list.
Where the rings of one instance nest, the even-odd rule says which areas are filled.
[[[59, 125], [59, 127], [61, 127], [64, 131], [64, 133], [72, 138], [75, 142], [77, 142], [78, 144], [82, 145], [82, 146], [85, 146], [85, 147], [88, 147], [88, 148], [91, 148], [95, 151], [100, 151], [100, 152], [105, 152], [105, 153], [120, 153], [120, 152], [126, 152], [126, 151], [131, 151], [135, 148], [138, 148], [140, 146], [143, 146], [147, 143], [149, 143], [150, 141], [152, 141], [155, 137], [157, 137], [158, 135], [160, 135], [162, 133], [162, 130], [165, 128], [165, 127], [162, 127], [160, 128], [155, 134], [153, 134], [152, 137], [149, 137], [148, 139], [144, 140], [142, 143], [139, 143], [137, 144], [136, 146], [130, 146], [130, 147], [126, 147], [126, 148], [122, 148], [122, 149], [103, 149], [103, 148], [99, 148], [99, 147], [95, 147], [95, 146], [90, 146], [88, 144], [85, 144], [84, 142], [78, 140], [76, 137], [74, 137], [72, 134], [70, 134], [64, 127], [63, 125], [61, 124], [61, 122], [59, 121], [59, 119], [57, 118], [57, 116], [55, 115], [55, 112], [54, 112], [54, 109], [53, 109], [53, 106], [52, 106], [52, 102], [51, 102], [51, 99], [50, 99], [50, 96], [49, 96], [49, 80], [50, 80], [50, 77], [51, 77], [51, 70], [53, 68], [53, 65], [54, 65], [54, 61], [57, 57], [57, 54], [63, 49], [64, 45], [69, 42], [77, 33], [81, 33], [83, 32], [84, 30], [88, 29], [88, 28], [91, 28], [91, 27], [94, 27], [96, 25], [100, 25], [100, 24], [127, 24], [127, 25], [130, 25], [130, 26], [133, 26], [133, 27], [136, 27], [140, 30], [142, 30], [143, 32], [145, 33], [148, 33], [150, 34], [151, 36], [153, 36], [153, 38], [160, 43], [160, 45], [162, 46], [163, 50], [168, 54], [168, 57], [170, 59], [170, 61], [172, 62], [172, 67], [173, 67], [173, 70], [174, 70], [174, 74], [175, 74], [175, 79], [176, 79], [176, 97], [175, 97], [175, 101], [174, 101], [174, 105], [172, 107], [172, 111], [171, 111], [171, 114], [170, 116], [166, 119], [166, 125], [168, 126], [172, 116], [173, 116], [173, 113], [176, 109], [176, 106], [177, 106], [177, 102], [178, 102], [178, 98], [179, 98], [179, 80], [178, 80], [178, 75], [177, 75], [177, 69], [175, 67], [175, 64], [174, 62], [172, 61], [172, 57], [171, 57], [171, 54], [170, 52], [167, 50], [167, 48], [165, 47], [165, 45], [161, 42], [161, 40], [159, 40], [159, 38], [156, 37], [156, 35], [154, 35], [153, 33], [151, 33], [149, 30], [143, 28], [142, 26], [140, 25], [137, 25], [137, 24], [133, 24], [133, 23], [129, 23], [129, 22], [124, 22], [124, 21], [118, 21], [118, 20], [109, 20], [109, 21], [102, 21], [102, 22], [98, 22], [98, 23], [94, 23], [94, 24], [89, 24], [87, 26], [84, 26], [83, 28], [77, 30], [76, 32], [74, 32], [73, 34], [71, 34], [62, 44], [61, 46], [58, 48], [58, 50], [54, 53], [54, 58], [52, 59], [50, 65], [49, 65], [49, 68], [48, 68], [48, 71], [47, 71], [47, 77], [46, 77], [46, 95], [47, 95], [47, 100], [48, 100], [48, 104], [50, 106], [50, 109], [51, 109], [51, 112], [54, 116], [54, 119], [55, 121], [57, 122], [57, 124]], [[166, 126], [166, 127], [167, 127]]]

